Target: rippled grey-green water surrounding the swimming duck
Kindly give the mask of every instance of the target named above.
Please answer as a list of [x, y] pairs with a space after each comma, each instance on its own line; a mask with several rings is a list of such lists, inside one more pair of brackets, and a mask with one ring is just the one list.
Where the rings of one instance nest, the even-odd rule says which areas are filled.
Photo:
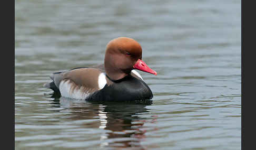
[[[153, 102], [51, 98], [50, 74], [139, 41]], [[15, 1], [15, 149], [241, 149], [240, 1]]]

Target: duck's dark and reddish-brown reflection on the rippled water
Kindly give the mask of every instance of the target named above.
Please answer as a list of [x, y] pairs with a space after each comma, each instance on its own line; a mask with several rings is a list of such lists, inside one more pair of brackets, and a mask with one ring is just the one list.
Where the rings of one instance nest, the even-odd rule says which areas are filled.
[[[84, 123], [86, 127], [98, 127], [106, 130], [101, 136], [102, 147], [133, 147], [145, 149], [140, 141], [145, 138], [145, 131], [140, 130], [146, 119], [139, 114], [146, 114], [147, 105], [151, 100], [135, 102], [86, 102], [61, 97], [54, 100], [62, 108], [71, 112], [71, 120], [100, 119], [95, 122]], [[56, 105], [57, 106], [57, 105]]]

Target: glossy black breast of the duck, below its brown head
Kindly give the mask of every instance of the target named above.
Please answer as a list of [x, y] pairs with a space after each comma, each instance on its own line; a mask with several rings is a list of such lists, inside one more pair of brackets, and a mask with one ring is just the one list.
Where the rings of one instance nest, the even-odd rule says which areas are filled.
[[92, 101], [135, 101], [152, 99], [153, 94], [147, 84], [131, 75], [105, 85], [103, 89], [90, 95]]

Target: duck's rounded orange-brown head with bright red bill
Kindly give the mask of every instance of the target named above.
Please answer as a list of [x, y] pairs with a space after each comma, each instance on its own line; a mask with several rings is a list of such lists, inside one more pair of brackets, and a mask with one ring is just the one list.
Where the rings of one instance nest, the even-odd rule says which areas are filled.
[[142, 59], [142, 48], [139, 42], [132, 38], [119, 37], [111, 40], [106, 46], [105, 71], [112, 80], [127, 76], [133, 69], [157, 74], [147, 67]]

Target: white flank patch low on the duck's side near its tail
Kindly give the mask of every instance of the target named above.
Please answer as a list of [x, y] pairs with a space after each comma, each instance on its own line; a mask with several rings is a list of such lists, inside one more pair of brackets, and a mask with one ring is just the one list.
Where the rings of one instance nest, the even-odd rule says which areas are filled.
[[62, 97], [71, 99], [85, 99], [88, 97], [89, 93], [84, 93], [82, 90], [83, 87], [75, 88], [73, 91], [71, 91], [71, 84], [72, 83], [69, 80], [61, 81], [59, 89]]

